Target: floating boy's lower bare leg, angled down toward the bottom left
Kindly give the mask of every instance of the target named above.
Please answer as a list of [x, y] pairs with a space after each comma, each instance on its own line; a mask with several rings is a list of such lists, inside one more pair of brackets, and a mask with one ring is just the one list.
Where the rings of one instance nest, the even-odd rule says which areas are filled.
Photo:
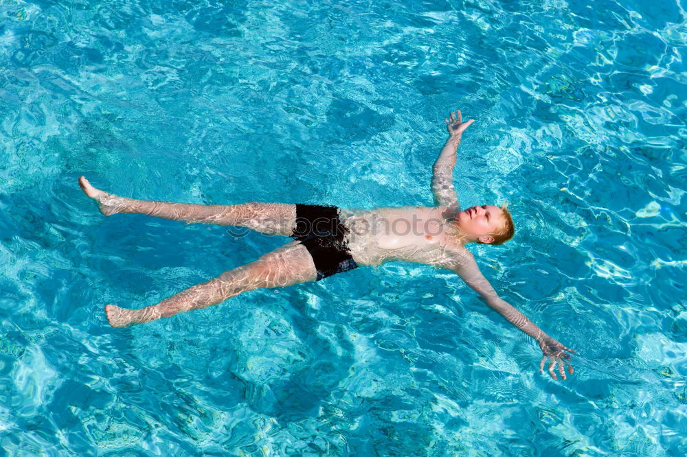
[[126, 327], [174, 316], [182, 311], [215, 305], [247, 290], [284, 287], [315, 279], [317, 271], [313, 257], [305, 246], [291, 242], [254, 262], [170, 296], [157, 305], [143, 309], [106, 305], [105, 312], [112, 327]]

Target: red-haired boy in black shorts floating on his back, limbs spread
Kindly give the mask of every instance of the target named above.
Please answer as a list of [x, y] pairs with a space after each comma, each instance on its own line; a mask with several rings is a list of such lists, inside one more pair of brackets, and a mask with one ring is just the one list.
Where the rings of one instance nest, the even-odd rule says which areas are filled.
[[358, 266], [379, 265], [388, 260], [427, 263], [452, 270], [460, 276], [489, 307], [508, 322], [537, 340], [548, 371], [556, 379], [558, 368], [565, 379], [565, 367], [572, 374], [570, 355], [576, 352], [563, 346], [534, 325], [515, 307], [499, 298], [482, 276], [475, 258], [465, 248], [469, 243], [502, 244], [515, 233], [506, 207], [482, 205], [460, 210], [453, 189], [453, 166], [462, 134], [473, 123], [463, 122], [460, 111], [444, 119], [449, 139], [433, 167], [431, 187], [434, 207], [376, 208], [350, 211], [332, 206], [251, 202], [243, 204], [187, 204], [150, 202], [122, 198], [95, 189], [81, 176], [79, 185], [98, 202], [100, 212], [135, 213], [188, 224], [242, 226], [260, 233], [292, 237], [288, 244], [260, 259], [224, 272], [215, 279], [194, 285], [170, 298], [142, 309], [106, 305], [110, 325], [126, 327], [142, 324], [182, 311], [205, 308], [247, 290], [277, 288], [319, 281]]

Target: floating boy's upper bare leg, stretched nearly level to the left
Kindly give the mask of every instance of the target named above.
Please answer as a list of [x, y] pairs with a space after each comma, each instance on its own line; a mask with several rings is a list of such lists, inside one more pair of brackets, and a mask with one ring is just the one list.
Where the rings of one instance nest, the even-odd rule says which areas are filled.
[[187, 223], [237, 225], [269, 235], [290, 236], [296, 220], [295, 204], [251, 202], [243, 204], [191, 204], [150, 202], [108, 194], [79, 178], [84, 193], [98, 202], [103, 215], [135, 213]]

